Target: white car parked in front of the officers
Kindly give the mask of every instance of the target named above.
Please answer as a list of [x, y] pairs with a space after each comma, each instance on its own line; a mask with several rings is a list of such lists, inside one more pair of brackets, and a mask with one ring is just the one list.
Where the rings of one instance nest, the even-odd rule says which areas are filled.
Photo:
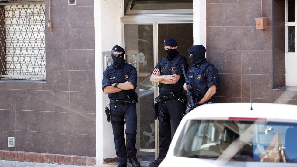
[[297, 106], [201, 105], [180, 122], [167, 166], [297, 166]]

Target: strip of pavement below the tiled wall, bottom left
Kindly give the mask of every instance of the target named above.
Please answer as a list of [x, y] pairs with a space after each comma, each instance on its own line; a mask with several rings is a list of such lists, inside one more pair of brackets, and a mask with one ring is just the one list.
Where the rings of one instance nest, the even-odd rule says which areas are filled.
[[0, 160], [0, 167], [91, 167], [91, 166], [55, 165], [55, 164], [35, 163], [35, 162]]

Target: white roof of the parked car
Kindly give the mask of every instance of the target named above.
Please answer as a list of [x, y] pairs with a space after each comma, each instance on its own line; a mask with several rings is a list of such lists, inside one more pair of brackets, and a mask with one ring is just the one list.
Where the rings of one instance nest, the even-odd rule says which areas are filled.
[[[251, 110], [251, 106], [253, 110]], [[215, 103], [204, 104], [190, 111], [184, 119], [195, 120], [254, 120], [297, 122], [297, 105], [274, 103]]]

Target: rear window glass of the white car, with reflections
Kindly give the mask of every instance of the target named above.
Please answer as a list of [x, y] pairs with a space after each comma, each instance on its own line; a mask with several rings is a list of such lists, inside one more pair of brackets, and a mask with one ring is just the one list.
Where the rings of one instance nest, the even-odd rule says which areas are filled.
[[[250, 141], [240, 142], [250, 126]], [[297, 163], [297, 124], [281, 122], [188, 120], [174, 156], [217, 159], [237, 138], [240, 149], [231, 161]]]

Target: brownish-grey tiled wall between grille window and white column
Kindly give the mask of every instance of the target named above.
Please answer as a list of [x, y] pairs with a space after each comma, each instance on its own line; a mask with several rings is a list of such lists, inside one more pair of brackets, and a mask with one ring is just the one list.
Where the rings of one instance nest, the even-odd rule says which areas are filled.
[[0, 150], [96, 156], [93, 5], [51, 0], [46, 83], [0, 82]]

